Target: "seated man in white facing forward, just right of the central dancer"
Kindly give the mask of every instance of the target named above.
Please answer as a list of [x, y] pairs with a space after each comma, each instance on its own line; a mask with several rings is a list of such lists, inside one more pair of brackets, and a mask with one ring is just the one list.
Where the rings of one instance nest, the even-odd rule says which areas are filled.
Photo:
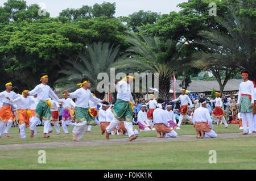
[[150, 124], [147, 122], [147, 113], [146, 113], [146, 104], [142, 104], [141, 106], [141, 111], [139, 111], [137, 117], [138, 117], [138, 125], [140, 131], [155, 131], [155, 128], [152, 127]]

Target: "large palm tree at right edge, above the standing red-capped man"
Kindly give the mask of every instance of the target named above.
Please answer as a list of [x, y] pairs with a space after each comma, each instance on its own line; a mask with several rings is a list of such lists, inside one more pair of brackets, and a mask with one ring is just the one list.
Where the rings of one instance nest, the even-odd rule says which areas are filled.
[[[226, 82], [238, 70], [247, 70], [252, 80], [256, 80], [255, 56], [255, 22], [243, 15], [237, 15], [246, 6], [228, 6], [228, 12], [223, 18], [216, 16], [216, 21], [226, 29], [226, 32], [201, 31], [199, 35], [205, 39], [200, 43], [207, 47], [204, 52], [195, 54], [193, 66], [211, 71], [216, 77], [220, 91], [224, 90]], [[224, 82], [221, 82], [221, 74]]]

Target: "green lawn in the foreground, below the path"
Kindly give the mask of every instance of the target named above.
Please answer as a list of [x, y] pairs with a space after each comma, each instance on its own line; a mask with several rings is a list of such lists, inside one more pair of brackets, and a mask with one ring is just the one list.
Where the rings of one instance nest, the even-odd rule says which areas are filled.
[[255, 137], [44, 148], [46, 164], [38, 163], [39, 150], [0, 150], [0, 169], [256, 169]]

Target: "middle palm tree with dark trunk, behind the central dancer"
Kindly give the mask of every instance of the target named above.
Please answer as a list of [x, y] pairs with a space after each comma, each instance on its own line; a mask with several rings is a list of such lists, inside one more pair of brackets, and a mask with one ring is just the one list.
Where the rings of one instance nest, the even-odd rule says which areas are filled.
[[159, 96], [167, 100], [174, 66], [171, 65], [171, 61], [164, 64], [156, 62], [156, 54], [162, 53], [161, 44], [166, 43], [169, 47], [173, 47], [174, 42], [171, 40], [163, 42], [159, 37], [135, 33], [130, 33], [125, 39], [131, 44], [131, 47], [126, 50], [128, 57], [115, 62], [112, 68], [126, 72], [158, 73], [156, 75], [159, 78]]

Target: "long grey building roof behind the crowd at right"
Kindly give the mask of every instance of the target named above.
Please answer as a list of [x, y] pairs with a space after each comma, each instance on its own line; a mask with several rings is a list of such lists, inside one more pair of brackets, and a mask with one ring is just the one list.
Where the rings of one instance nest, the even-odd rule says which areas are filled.
[[[181, 87], [179, 86], [180, 83], [183, 80], [176, 80], [175, 83], [175, 92], [181, 92]], [[226, 83], [226, 86], [224, 87], [224, 91], [238, 91], [239, 85], [242, 82], [242, 79], [231, 79]], [[222, 81], [223, 83], [223, 81]], [[212, 89], [215, 89], [216, 91], [220, 91], [220, 86], [218, 85], [217, 81], [194, 81], [189, 84], [187, 87], [187, 91], [189, 92], [210, 92]], [[171, 85], [170, 92], [173, 91], [173, 82]]]

